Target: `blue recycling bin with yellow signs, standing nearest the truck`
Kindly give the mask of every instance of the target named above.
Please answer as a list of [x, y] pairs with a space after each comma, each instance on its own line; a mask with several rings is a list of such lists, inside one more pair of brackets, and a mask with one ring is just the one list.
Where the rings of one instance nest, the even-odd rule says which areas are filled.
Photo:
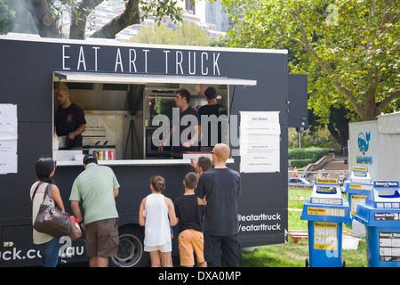
[[311, 199], [304, 203], [302, 220], [308, 220], [310, 267], [341, 267], [343, 223], [350, 223], [348, 202], [341, 197], [339, 179], [316, 178]]

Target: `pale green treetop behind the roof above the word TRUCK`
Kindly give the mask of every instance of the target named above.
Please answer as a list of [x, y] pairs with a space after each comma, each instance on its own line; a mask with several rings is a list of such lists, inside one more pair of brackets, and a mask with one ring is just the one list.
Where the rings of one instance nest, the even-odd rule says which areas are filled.
[[129, 42], [157, 45], [210, 45], [212, 39], [207, 36], [204, 29], [195, 24], [182, 22], [175, 30], [167, 28], [165, 24], [152, 27], [142, 27], [136, 37]]

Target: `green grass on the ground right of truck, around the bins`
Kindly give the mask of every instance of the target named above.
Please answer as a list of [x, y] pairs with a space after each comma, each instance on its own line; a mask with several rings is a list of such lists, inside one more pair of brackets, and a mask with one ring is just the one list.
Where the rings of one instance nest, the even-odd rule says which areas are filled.
[[[288, 226], [289, 230], [308, 230], [308, 222], [300, 219], [301, 209], [304, 205], [304, 199], [309, 199], [311, 190], [289, 189], [288, 203]], [[292, 201], [293, 199], [298, 199]], [[343, 194], [343, 199], [347, 195]], [[296, 210], [297, 209], [297, 210]], [[352, 228], [348, 224], [343, 224], [343, 231], [352, 233]], [[365, 239], [356, 250], [342, 250], [342, 260], [346, 262], [347, 267], [367, 266]], [[293, 243], [289, 238], [287, 243], [262, 246], [251, 253], [242, 254], [242, 267], [305, 267], [306, 258], [308, 258], [308, 241], [300, 240], [299, 243]]]

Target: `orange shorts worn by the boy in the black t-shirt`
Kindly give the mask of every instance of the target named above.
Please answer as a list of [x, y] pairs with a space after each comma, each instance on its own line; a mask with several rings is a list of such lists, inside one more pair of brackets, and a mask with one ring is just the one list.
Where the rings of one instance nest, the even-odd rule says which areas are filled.
[[195, 265], [193, 250], [196, 252], [197, 264], [204, 262], [203, 232], [188, 229], [180, 232], [178, 239], [180, 240], [180, 266]]

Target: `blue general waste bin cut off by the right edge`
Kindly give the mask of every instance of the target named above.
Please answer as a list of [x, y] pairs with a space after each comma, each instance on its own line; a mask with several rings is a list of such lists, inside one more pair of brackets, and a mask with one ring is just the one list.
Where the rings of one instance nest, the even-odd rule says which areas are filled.
[[354, 219], [366, 228], [369, 267], [400, 267], [400, 191], [398, 181], [375, 181]]

